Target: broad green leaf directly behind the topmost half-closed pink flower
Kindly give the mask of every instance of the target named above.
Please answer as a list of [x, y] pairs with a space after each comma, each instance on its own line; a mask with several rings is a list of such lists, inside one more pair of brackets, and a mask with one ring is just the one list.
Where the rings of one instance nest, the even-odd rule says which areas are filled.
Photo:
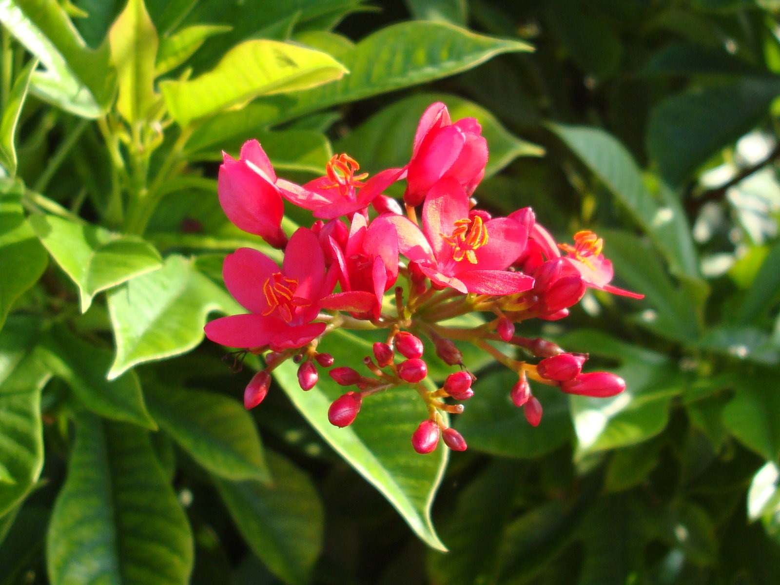
[[448, 94], [419, 94], [382, 109], [339, 140], [336, 150], [352, 154], [368, 171], [402, 167], [409, 162], [420, 115], [435, 101], [443, 101], [452, 120], [473, 117], [488, 140], [490, 157], [485, 176], [493, 176], [519, 156], [541, 156], [544, 149], [513, 136], [488, 110]]

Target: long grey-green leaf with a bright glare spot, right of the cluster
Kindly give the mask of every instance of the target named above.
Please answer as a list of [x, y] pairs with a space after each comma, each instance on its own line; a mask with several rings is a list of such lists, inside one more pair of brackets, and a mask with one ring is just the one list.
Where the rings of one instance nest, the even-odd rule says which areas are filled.
[[629, 151], [605, 130], [562, 124], [551, 124], [550, 129], [626, 206], [664, 254], [672, 272], [696, 278], [697, 257], [690, 226], [675, 193], [661, 187], [658, 199], [654, 197]]

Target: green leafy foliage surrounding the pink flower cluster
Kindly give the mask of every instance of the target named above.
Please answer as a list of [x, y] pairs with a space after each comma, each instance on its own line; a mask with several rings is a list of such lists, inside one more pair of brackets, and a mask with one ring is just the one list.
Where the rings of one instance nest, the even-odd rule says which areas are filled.
[[[0, 2], [0, 583], [777, 583], [780, 3], [124, 4]], [[236, 312], [222, 257], [273, 252], [220, 150], [376, 172], [438, 99], [483, 124], [483, 204], [594, 229], [647, 296], [523, 329], [629, 390], [540, 388], [533, 429], [467, 355], [449, 462], [402, 393], [339, 431], [288, 369], [246, 413], [202, 326]]]

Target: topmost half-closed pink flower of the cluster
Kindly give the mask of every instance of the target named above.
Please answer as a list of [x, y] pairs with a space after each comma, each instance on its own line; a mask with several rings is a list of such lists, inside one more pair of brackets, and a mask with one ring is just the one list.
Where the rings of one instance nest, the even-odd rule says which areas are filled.
[[452, 123], [440, 101], [424, 112], [414, 135], [412, 158], [406, 165], [406, 204], [417, 206], [440, 179], [456, 181], [470, 195], [485, 174], [488, 142], [476, 119]]

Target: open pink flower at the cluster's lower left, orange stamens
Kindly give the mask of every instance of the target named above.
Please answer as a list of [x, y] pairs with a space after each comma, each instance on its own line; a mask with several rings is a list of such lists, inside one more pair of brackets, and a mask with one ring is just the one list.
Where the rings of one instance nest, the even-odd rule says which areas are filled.
[[265, 254], [239, 248], [225, 258], [222, 276], [233, 298], [250, 313], [207, 323], [211, 341], [281, 351], [304, 346], [324, 332], [324, 323], [311, 321], [319, 312], [318, 301], [335, 282], [325, 274], [324, 256], [310, 229], [300, 228], [290, 238], [281, 270]]

